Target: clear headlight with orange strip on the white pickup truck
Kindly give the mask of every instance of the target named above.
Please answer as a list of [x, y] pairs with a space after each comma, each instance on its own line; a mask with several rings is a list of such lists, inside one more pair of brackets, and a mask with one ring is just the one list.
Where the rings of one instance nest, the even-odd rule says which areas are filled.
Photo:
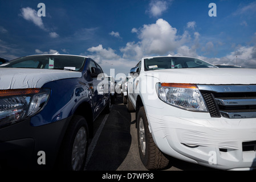
[[160, 100], [190, 111], [208, 112], [197, 85], [194, 84], [156, 84]]

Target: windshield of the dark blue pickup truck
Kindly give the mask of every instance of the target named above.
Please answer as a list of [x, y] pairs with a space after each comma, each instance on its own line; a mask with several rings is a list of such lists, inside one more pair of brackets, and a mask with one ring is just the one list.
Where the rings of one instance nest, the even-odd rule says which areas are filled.
[[82, 71], [85, 58], [64, 55], [38, 55], [21, 57], [6, 64], [1, 68], [36, 68], [36, 69], [68, 69]]

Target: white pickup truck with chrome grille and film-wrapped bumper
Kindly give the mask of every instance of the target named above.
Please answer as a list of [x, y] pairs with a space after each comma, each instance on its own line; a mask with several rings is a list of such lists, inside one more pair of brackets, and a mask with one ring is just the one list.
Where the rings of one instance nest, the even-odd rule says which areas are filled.
[[183, 56], [144, 57], [131, 69], [128, 111], [136, 111], [140, 158], [216, 169], [256, 167], [256, 69], [217, 68]]

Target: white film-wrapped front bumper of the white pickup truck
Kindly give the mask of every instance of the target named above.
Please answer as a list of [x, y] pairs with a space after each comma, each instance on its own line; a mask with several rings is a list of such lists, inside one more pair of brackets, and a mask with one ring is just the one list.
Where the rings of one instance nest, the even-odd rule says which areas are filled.
[[[155, 143], [162, 152], [217, 169], [256, 168], [256, 119], [211, 118], [166, 105], [146, 106]], [[255, 143], [256, 145], [256, 143]]]

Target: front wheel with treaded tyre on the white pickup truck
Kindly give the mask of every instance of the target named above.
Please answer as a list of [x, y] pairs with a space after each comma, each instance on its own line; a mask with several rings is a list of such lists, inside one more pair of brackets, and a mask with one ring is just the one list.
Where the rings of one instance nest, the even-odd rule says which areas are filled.
[[168, 166], [169, 159], [156, 146], [148, 129], [148, 119], [144, 107], [140, 107], [137, 115], [137, 138], [140, 159], [149, 170], [162, 169]]

